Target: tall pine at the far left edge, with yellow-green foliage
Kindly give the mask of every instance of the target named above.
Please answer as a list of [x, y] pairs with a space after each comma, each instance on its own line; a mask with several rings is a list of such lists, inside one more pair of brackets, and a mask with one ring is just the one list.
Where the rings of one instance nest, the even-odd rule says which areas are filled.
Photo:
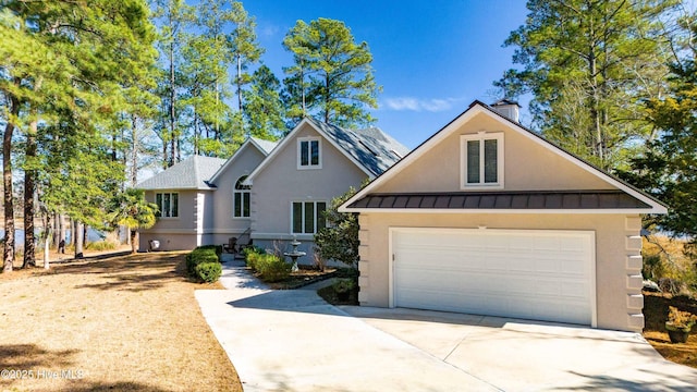
[[[52, 211], [68, 208], [73, 216], [85, 217], [83, 221], [95, 222], [103, 216], [103, 212], [96, 213], [99, 208], [88, 207], [90, 203], [105, 205], [91, 191], [111, 188], [123, 176], [122, 166], [105, 160], [107, 148], [113, 142], [105, 136], [114, 128], [119, 113], [123, 111], [122, 84], [152, 60], [149, 48], [154, 29], [148, 23], [148, 8], [142, 0], [118, 3], [109, 0], [89, 3], [3, 1], [2, 5], [0, 88], [13, 97], [10, 101], [16, 100], [19, 105], [16, 115], [11, 118], [11, 131], [20, 128], [25, 137], [25, 265], [32, 265], [35, 184], [44, 187], [41, 195], [47, 197], [44, 203], [56, 201], [45, 203], [53, 208]], [[47, 155], [49, 151], [58, 156], [64, 154], [51, 149], [50, 144], [65, 140], [70, 143], [64, 145], [64, 150], [75, 151], [66, 157], [73, 160], [68, 166], [66, 159]], [[12, 142], [8, 132], [5, 142]], [[8, 145], [11, 147], [9, 143], [5, 147]], [[75, 161], [78, 157], [82, 159]], [[8, 160], [4, 164], [7, 180], [7, 174], [10, 179], [12, 175], [11, 155], [7, 154], [4, 158]], [[121, 176], [111, 170], [93, 172], [105, 166], [118, 168]], [[59, 177], [81, 177], [82, 181], [53, 186], [56, 182], [60, 183], [59, 177], [53, 180], [47, 174], [57, 168], [63, 170], [54, 172]], [[87, 194], [73, 198], [72, 205], [59, 203], [71, 196], [60, 194], [58, 188]], [[88, 212], [93, 213], [87, 216]], [[5, 243], [5, 266], [13, 246], [13, 241]]]

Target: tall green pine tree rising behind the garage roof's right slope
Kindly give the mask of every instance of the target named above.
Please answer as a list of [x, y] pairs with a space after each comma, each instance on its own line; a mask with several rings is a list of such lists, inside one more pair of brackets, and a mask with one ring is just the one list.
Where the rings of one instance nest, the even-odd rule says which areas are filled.
[[531, 93], [534, 127], [604, 169], [650, 136], [640, 101], [660, 96], [669, 51], [661, 15], [674, 0], [529, 0], [512, 32], [513, 62], [496, 83], [508, 98]]

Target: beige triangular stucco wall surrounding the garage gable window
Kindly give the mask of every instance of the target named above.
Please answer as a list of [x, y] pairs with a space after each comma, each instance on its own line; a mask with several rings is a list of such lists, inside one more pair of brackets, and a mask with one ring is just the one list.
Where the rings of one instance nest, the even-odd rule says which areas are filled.
[[600, 180], [515, 132], [511, 125], [479, 113], [380, 186], [379, 192], [461, 191], [461, 135], [504, 133], [504, 188], [501, 191], [612, 189]]

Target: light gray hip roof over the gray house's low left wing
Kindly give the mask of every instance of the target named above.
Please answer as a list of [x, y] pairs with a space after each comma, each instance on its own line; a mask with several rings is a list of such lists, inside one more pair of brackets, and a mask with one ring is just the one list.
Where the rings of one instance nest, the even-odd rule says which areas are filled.
[[139, 189], [215, 189], [208, 179], [220, 169], [224, 159], [191, 156], [136, 185]]

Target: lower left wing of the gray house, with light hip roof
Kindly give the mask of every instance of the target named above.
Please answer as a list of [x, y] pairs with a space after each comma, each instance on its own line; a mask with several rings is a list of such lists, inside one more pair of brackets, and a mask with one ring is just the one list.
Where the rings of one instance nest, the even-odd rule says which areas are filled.
[[140, 250], [148, 249], [149, 241], [158, 241], [163, 250], [182, 250], [228, 243], [244, 233], [249, 189], [242, 183], [273, 147], [273, 142], [252, 137], [228, 160], [192, 156], [138, 184], [160, 210], [157, 223], [140, 231]]

